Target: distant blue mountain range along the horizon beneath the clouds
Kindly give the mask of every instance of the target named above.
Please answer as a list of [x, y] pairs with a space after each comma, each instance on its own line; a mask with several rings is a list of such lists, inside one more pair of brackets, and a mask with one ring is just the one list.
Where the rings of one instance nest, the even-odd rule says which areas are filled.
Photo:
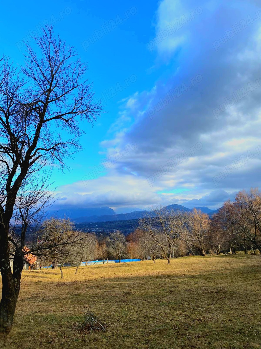
[[[195, 207], [197, 210], [212, 216], [217, 213], [217, 210], [211, 210], [208, 207], [200, 206]], [[182, 205], [168, 205], [167, 210], [181, 210], [185, 212], [191, 212], [192, 209], [184, 207]], [[126, 209], [127, 210], [127, 209]], [[55, 216], [59, 218], [70, 218], [75, 223], [90, 223], [90, 222], [109, 222], [109, 221], [128, 221], [133, 219], [142, 218], [149, 213], [149, 211], [135, 208], [127, 213], [116, 213], [110, 207], [88, 207], [88, 208], [75, 208], [66, 207], [63, 209], [52, 210], [48, 216]]]

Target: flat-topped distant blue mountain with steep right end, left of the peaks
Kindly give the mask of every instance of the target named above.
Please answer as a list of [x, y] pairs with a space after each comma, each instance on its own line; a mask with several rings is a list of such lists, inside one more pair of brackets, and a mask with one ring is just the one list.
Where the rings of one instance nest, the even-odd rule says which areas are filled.
[[64, 207], [59, 208], [57, 210], [52, 209], [49, 210], [48, 217], [58, 217], [58, 218], [70, 218], [74, 220], [74, 218], [78, 218], [80, 216], [90, 217], [90, 216], [104, 216], [104, 215], [115, 215], [116, 213], [110, 207]]

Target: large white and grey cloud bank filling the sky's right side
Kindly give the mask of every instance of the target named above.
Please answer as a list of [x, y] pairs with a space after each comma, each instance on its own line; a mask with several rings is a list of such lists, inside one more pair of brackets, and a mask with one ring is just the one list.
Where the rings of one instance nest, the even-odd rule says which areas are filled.
[[[114, 207], [217, 207], [260, 186], [260, 17], [256, 1], [159, 2], [148, 49], [164, 76], [122, 101], [101, 143], [121, 158], [90, 180], [92, 192], [80, 183], [61, 192]], [[169, 193], [180, 188], [189, 191]]]

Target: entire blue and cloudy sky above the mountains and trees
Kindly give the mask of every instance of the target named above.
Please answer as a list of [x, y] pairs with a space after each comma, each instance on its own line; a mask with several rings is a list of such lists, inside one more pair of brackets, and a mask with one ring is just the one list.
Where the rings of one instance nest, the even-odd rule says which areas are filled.
[[222, 206], [260, 186], [261, 1], [2, 3], [3, 54], [41, 25], [88, 62], [104, 113], [52, 172], [57, 207]]

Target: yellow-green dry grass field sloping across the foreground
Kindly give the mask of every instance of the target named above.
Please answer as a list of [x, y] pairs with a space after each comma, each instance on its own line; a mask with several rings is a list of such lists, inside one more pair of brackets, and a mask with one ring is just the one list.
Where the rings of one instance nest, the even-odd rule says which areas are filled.
[[[260, 267], [237, 254], [67, 267], [63, 280], [33, 270], [0, 348], [261, 348]], [[86, 311], [105, 332], [82, 326]]]

